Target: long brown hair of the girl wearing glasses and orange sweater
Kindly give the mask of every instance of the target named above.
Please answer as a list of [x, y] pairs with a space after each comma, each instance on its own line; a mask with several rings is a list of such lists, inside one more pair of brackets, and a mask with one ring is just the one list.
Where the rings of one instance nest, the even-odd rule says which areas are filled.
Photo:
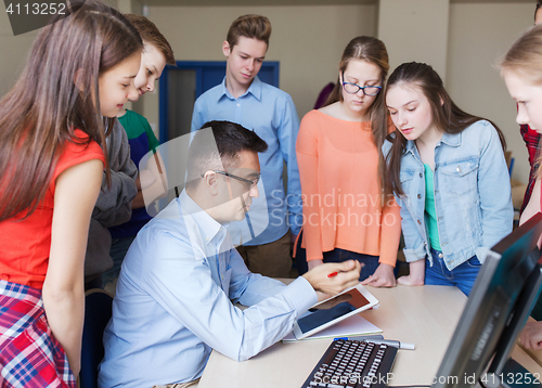
[[[346, 68], [350, 61], [361, 60], [367, 63], [372, 63], [379, 67], [380, 69], [380, 86], [384, 89], [384, 83], [389, 70], [389, 59], [386, 46], [379, 39], [373, 37], [356, 37], [347, 44], [339, 63], [339, 73], [345, 74]], [[340, 82], [340, 76], [337, 78], [335, 88], [331, 92], [324, 106], [331, 105], [337, 101], [343, 102], [343, 83]], [[384, 101], [383, 90], [376, 95], [371, 106], [367, 108], [367, 115], [371, 120], [371, 130], [373, 132], [373, 142], [376, 145], [378, 152], [378, 176], [379, 184], [383, 186], [384, 174], [386, 172], [386, 167], [384, 163], [384, 157], [382, 154], [382, 145], [387, 135], [388, 128], [388, 114], [386, 109], [386, 104]], [[387, 201], [385, 202], [387, 203]]]

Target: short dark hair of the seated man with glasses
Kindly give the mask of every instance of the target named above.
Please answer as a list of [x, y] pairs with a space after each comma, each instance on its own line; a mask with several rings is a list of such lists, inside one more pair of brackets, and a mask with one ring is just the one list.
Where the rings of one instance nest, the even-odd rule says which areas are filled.
[[245, 127], [231, 121], [208, 121], [192, 139], [186, 163], [188, 181], [192, 185], [208, 170], [238, 166], [243, 151], [264, 152], [268, 144]]

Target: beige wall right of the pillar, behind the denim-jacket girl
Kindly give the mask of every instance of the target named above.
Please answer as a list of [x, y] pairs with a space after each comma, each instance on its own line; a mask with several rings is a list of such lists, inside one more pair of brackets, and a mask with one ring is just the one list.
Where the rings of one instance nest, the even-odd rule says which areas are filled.
[[456, 3], [450, 7], [447, 90], [464, 111], [494, 121], [515, 158], [513, 178], [529, 179], [527, 148], [515, 122], [516, 104], [494, 67], [512, 43], [533, 23], [528, 3]]

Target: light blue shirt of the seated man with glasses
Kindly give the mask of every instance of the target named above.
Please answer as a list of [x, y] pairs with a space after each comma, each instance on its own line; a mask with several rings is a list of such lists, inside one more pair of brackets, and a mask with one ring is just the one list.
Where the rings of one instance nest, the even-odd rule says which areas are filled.
[[250, 273], [224, 227], [183, 191], [122, 262], [99, 386], [190, 381], [212, 349], [246, 360], [288, 334], [317, 299], [305, 277], [285, 286]]

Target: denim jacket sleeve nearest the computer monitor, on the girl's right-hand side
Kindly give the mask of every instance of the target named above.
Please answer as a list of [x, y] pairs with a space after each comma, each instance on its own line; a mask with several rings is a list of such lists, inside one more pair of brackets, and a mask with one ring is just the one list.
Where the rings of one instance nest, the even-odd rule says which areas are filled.
[[[512, 232], [514, 208], [508, 168], [496, 130], [490, 124], [481, 133], [478, 194], [481, 209], [482, 246], [476, 248], [483, 262], [490, 247]], [[494, 187], [499, 187], [495, 192]]]

